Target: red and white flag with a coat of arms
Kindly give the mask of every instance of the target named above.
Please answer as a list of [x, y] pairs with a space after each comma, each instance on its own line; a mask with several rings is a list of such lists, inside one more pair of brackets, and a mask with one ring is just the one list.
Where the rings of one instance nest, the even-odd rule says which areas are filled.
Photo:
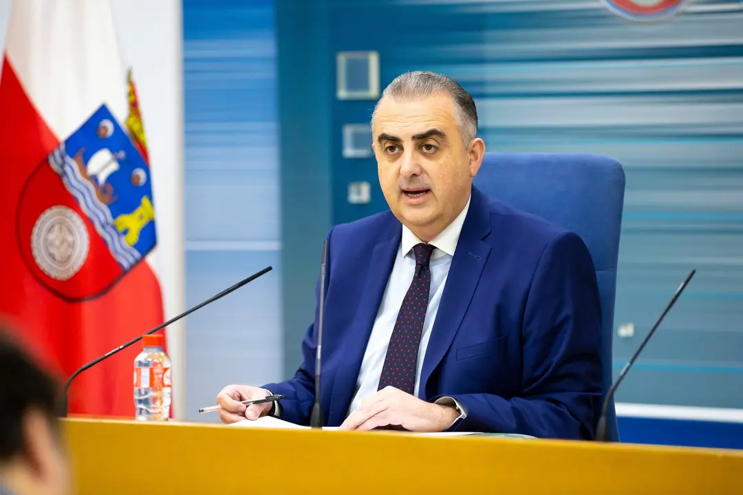
[[[163, 322], [142, 114], [105, 0], [13, 3], [0, 80], [0, 313], [65, 377]], [[132, 417], [134, 356], [82, 373], [70, 413]]]

